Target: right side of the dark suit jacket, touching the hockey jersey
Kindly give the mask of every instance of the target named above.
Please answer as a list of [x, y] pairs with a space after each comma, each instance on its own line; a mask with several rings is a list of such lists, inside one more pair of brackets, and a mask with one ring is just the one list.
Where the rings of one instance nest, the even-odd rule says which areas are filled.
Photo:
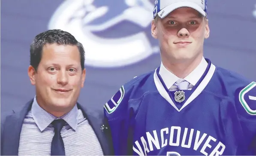
[[[104, 122], [104, 114], [103, 110], [99, 112], [93, 112], [84, 109], [78, 104], [78, 109], [81, 109], [84, 113], [84, 117], [86, 117], [93, 128], [99, 143], [102, 147], [104, 155], [110, 156], [113, 155], [112, 151], [112, 142], [111, 142], [111, 133], [109, 132], [108, 126]], [[104, 127], [102, 127], [104, 125]]]

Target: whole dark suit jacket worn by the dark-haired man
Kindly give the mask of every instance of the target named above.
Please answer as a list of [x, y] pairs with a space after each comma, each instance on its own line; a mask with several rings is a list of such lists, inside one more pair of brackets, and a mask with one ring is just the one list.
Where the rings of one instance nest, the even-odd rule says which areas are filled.
[[[32, 103], [33, 99], [30, 100], [22, 108], [22, 110], [13, 110], [11, 115], [1, 120], [1, 155], [18, 156], [21, 127], [25, 116], [31, 109]], [[111, 135], [109, 130], [106, 130], [105, 128], [102, 130], [103, 124], [107, 126], [104, 122], [103, 107], [100, 113], [96, 111], [93, 112], [92, 110], [86, 110], [80, 104], [78, 104], [78, 109], [81, 109], [84, 117], [88, 119], [97, 138], [99, 139], [99, 143], [102, 147], [104, 155], [113, 155]]]

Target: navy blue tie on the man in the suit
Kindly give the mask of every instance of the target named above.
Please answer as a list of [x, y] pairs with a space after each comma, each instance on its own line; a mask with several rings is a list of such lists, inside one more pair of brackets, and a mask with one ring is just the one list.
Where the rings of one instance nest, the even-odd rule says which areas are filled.
[[63, 119], [54, 120], [51, 123], [54, 127], [54, 136], [51, 141], [51, 156], [65, 156], [65, 147], [60, 135], [60, 130], [63, 128], [65, 123], [66, 121]]

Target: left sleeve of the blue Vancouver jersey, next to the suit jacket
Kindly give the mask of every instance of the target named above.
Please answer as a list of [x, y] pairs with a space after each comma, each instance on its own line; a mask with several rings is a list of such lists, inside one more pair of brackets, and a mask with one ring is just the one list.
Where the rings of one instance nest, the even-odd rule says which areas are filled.
[[108, 122], [116, 156], [132, 154], [133, 108], [129, 108], [131, 92], [132, 87], [124, 85], [104, 105], [105, 121]]

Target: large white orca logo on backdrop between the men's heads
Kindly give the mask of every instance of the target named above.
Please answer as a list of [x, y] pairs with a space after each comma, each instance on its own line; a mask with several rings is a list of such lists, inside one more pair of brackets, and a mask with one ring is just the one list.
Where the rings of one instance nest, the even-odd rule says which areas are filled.
[[70, 32], [85, 49], [85, 65], [120, 67], [159, 52], [151, 37], [153, 0], [66, 0], [48, 29]]

